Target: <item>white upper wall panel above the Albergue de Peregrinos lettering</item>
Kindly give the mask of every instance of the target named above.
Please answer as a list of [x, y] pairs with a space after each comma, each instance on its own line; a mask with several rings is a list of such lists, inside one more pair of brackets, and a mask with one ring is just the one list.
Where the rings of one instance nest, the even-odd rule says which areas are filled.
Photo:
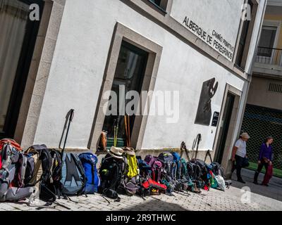
[[219, 0], [216, 1], [216, 4], [210, 0], [176, 0], [173, 1], [171, 16], [181, 24], [183, 24], [183, 20], [187, 16], [192, 22], [196, 23], [202, 30], [213, 37], [212, 46], [214, 46], [214, 39], [216, 40], [213, 35], [215, 31], [221, 34], [221, 37], [226, 39], [234, 47], [240, 25], [241, 6], [243, 3], [244, 0], [227, 2], [225, 0]]

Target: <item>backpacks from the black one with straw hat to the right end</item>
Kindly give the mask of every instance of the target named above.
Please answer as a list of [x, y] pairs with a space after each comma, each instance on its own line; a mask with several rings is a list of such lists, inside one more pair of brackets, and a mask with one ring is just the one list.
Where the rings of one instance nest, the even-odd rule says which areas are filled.
[[[183, 147], [183, 143], [181, 143]], [[185, 148], [185, 146], [184, 146]], [[188, 156], [188, 155], [187, 155]], [[99, 168], [99, 193], [120, 200], [118, 193], [128, 195], [171, 195], [173, 191], [192, 191], [219, 188], [225, 191], [231, 185], [226, 181], [224, 169], [217, 162], [207, 164], [193, 158], [185, 160], [173, 151], [158, 156], [135, 156], [133, 148], [111, 147]]]

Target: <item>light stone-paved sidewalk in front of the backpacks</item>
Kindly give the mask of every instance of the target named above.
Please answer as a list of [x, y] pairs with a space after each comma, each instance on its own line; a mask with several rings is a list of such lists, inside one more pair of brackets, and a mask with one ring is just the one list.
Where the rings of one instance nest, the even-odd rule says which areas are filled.
[[[133, 211], [183, 211], [183, 210], [201, 210], [201, 211], [252, 211], [252, 210], [282, 210], [282, 179], [273, 178], [269, 187], [255, 186], [252, 181], [252, 171], [243, 170], [243, 179], [247, 184], [240, 184], [233, 180], [231, 188], [225, 192], [212, 189], [210, 191], [202, 191], [202, 193], [173, 193], [174, 196], [154, 195], [146, 197], [145, 200], [139, 196], [120, 195], [121, 202], [116, 203], [114, 200], [108, 199], [110, 204], [102, 198], [101, 195], [84, 195], [79, 197], [71, 197], [71, 200], [58, 200], [59, 203], [78, 211], [112, 211], [112, 210], [133, 210]], [[262, 176], [262, 175], [261, 175]], [[261, 176], [259, 179], [261, 179]], [[233, 178], [235, 176], [233, 175]], [[252, 193], [245, 193], [241, 188], [249, 186]], [[250, 196], [250, 198], [248, 198]], [[272, 198], [271, 198], [272, 197]], [[243, 201], [241, 201], [243, 199]], [[42, 203], [43, 204], [43, 203]], [[55, 205], [55, 204], [54, 204]], [[35, 207], [28, 207], [26, 202], [20, 203], [0, 203], [0, 210], [37, 210]], [[42, 211], [50, 210], [67, 210], [65, 207], [56, 206], [55, 209], [41, 209]]]

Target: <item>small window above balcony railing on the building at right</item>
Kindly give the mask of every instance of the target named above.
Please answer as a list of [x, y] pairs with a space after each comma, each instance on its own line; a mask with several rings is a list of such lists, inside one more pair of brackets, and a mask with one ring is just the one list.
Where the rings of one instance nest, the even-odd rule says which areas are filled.
[[262, 26], [262, 34], [257, 49], [257, 56], [271, 57], [276, 37], [277, 27]]

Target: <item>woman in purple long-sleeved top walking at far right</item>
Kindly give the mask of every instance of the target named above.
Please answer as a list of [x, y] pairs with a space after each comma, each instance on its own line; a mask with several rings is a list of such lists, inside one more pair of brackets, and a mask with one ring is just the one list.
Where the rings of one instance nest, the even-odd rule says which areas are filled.
[[[259, 176], [259, 173], [262, 171], [262, 167], [265, 168], [265, 175], [267, 174], [267, 169], [270, 165], [272, 165], [272, 160], [273, 160], [273, 150], [271, 143], [273, 142], [273, 138], [271, 136], [268, 136], [264, 143], [262, 143], [262, 146], [260, 147], [259, 151], [259, 159], [257, 162], [257, 170], [255, 172], [255, 177], [254, 177], [254, 184], [257, 183], [257, 177]], [[268, 184], [263, 184], [265, 186], [268, 186]]]

